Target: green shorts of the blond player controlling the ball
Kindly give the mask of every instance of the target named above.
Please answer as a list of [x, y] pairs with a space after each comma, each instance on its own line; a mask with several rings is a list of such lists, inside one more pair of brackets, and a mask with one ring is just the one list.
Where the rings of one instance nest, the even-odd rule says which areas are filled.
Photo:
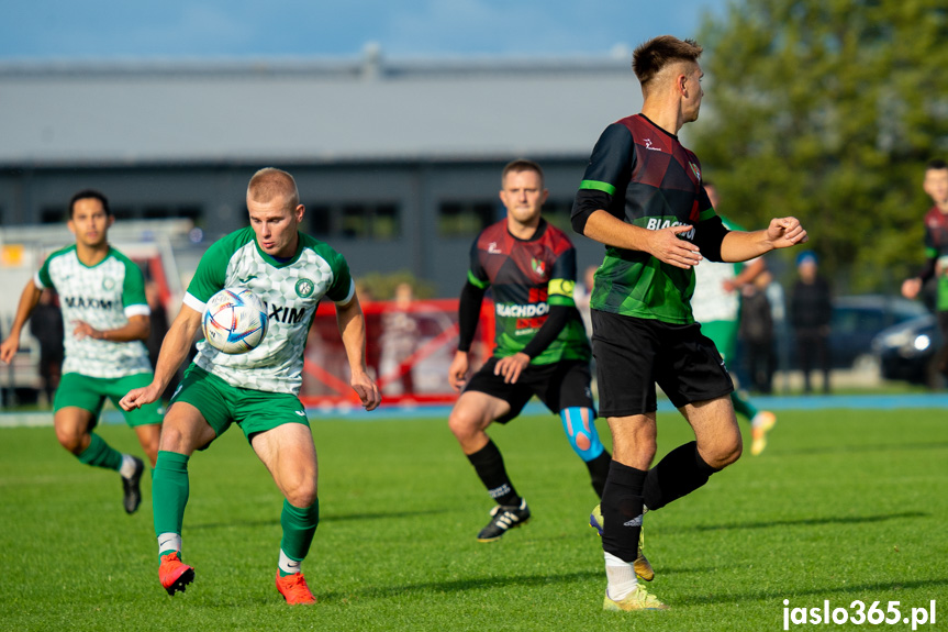
[[232, 423], [241, 426], [248, 442], [258, 432], [285, 423], [310, 425], [306, 411], [297, 396], [231, 386], [194, 364], [185, 372], [185, 378], [171, 396], [171, 404], [179, 401], [200, 410], [218, 436], [224, 434]]

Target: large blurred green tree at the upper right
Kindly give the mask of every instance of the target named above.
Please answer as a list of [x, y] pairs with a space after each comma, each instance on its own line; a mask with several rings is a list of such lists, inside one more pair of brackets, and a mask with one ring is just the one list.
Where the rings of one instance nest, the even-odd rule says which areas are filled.
[[800, 218], [840, 289], [916, 269], [925, 163], [948, 152], [945, 0], [733, 0], [699, 43], [687, 133], [725, 214]]

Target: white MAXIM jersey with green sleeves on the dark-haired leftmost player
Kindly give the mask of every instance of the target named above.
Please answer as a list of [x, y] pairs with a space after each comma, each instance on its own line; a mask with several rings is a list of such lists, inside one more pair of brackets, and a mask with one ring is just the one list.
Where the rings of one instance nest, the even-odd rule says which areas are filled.
[[40, 289], [54, 288], [59, 295], [66, 330], [64, 374], [116, 378], [152, 370], [142, 341], [79, 340], [73, 335], [75, 321], [104, 331], [125, 326], [131, 317], [152, 313], [145, 300], [145, 277], [129, 257], [110, 247], [105, 258], [90, 267], [79, 260], [73, 244], [46, 257], [33, 282]]

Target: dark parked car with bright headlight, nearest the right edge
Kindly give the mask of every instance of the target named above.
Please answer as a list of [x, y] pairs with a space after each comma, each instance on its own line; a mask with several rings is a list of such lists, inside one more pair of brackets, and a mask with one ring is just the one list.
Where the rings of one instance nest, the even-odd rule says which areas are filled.
[[932, 314], [885, 329], [872, 341], [882, 377], [930, 387], [941, 385], [941, 376], [934, 366], [940, 347], [941, 332]]

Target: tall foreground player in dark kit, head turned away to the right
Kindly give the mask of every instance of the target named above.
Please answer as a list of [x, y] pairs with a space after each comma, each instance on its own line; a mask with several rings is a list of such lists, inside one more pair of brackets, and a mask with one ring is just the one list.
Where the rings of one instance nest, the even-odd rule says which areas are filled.
[[[747, 260], [806, 240], [794, 218], [748, 233], [728, 231], [715, 214], [698, 157], [677, 136], [698, 119], [704, 95], [700, 55], [693, 41], [670, 35], [636, 48], [642, 113], [602, 133], [572, 210], [573, 229], [606, 246], [590, 301], [600, 414], [613, 439], [600, 523], [606, 610], [666, 608], [634, 572], [644, 510], [690, 494], [740, 456], [728, 397], [734, 386], [692, 317], [692, 268], [702, 258]], [[696, 441], [651, 467], [656, 384]]]

